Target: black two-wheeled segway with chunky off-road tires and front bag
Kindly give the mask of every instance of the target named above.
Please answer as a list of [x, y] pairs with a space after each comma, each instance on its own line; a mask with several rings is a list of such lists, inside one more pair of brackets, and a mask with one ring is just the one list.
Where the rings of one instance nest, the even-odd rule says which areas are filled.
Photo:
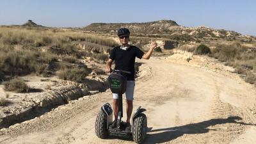
[[95, 122], [95, 133], [99, 138], [108, 138], [108, 136], [120, 136], [122, 138], [133, 138], [136, 143], [142, 143], [145, 140], [147, 133], [147, 116], [143, 113], [146, 109], [141, 106], [132, 115], [131, 131], [125, 131], [125, 122], [122, 122], [123, 117], [123, 102], [122, 94], [125, 93], [126, 79], [124, 74], [131, 74], [124, 70], [115, 70], [109, 77], [109, 86], [112, 93], [118, 93], [118, 119], [116, 127], [109, 127], [113, 122], [113, 109], [109, 103], [104, 104], [100, 108]]

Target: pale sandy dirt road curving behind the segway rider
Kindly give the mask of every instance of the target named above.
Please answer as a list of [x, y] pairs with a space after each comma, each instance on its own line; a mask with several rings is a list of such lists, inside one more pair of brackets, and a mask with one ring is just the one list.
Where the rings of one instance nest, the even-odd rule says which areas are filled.
[[[141, 60], [134, 109], [146, 108], [145, 143], [255, 143], [256, 118], [248, 110], [255, 88], [200, 68], [166, 60]], [[0, 143], [134, 143], [95, 135], [100, 106], [111, 92], [74, 100], [1, 131]], [[124, 118], [125, 119], [125, 118]]]

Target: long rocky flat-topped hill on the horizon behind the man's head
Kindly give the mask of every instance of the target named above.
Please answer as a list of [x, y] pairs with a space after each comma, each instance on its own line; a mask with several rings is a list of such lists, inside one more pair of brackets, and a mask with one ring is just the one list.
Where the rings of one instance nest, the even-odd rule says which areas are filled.
[[97, 31], [102, 33], [116, 33], [116, 29], [129, 28], [133, 36], [169, 38], [178, 41], [205, 41], [205, 40], [256, 40], [255, 36], [245, 36], [236, 31], [227, 31], [224, 29], [213, 29], [205, 26], [189, 28], [179, 26], [173, 20], [158, 20], [154, 22], [141, 23], [93, 23], [82, 28], [85, 31]]

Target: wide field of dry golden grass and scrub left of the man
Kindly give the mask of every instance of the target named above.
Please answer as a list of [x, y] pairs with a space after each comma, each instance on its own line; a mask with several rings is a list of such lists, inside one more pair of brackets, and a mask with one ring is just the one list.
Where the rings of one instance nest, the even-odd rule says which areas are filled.
[[[67, 65], [70, 65], [68, 63], [81, 65], [77, 59], [84, 56], [106, 61], [108, 55], [81, 51], [81, 48], [76, 44], [82, 41], [98, 46], [113, 47], [116, 45], [114, 40], [106, 37], [88, 35], [77, 31], [2, 26], [0, 27], [0, 81], [5, 81], [6, 76], [24, 76], [31, 73], [51, 76], [58, 70], [62, 72], [63, 79], [72, 80], [65, 72], [76, 73], [79, 71], [85, 76], [87, 72], [84, 68], [70, 70], [61, 65], [66, 65], [65, 63]], [[47, 48], [42, 49], [42, 46]], [[74, 78], [74, 81], [81, 81], [78, 77]]]

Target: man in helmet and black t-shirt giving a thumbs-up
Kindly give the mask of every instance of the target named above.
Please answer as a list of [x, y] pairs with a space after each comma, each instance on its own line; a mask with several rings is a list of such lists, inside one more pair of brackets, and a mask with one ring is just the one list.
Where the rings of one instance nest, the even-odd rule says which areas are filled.
[[[127, 77], [127, 86], [126, 86], [126, 112], [127, 112], [127, 125], [125, 130], [131, 131], [131, 123], [130, 118], [132, 114], [132, 100], [133, 100], [133, 93], [134, 93], [134, 63], [135, 58], [143, 58], [148, 60], [153, 52], [153, 50], [157, 47], [157, 43], [153, 42], [151, 40], [150, 49], [145, 54], [143, 51], [141, 51], [138, 47], [135, 47], [134, 45], [129, 45], [129, 37], [130, 37], [130, 31], [127, 28], [121, 28], [118, 30], [117, 35], [119, 36], [119, 40], [121, 45], [118, 47], [114, 47], [109, 56], [109, 60], [106, 64], [106, 72], [111, 72], [111, 65], [113, 61], [115, 60], [115, 69], [117, 70], [126, 70], [128, 72], [131, 72], [131, 74], [125, 75]], [[111, 127], [116, 127], [116, 120], [118, 116], [118, 94], [113, 93], [113, 111], [115, 115], [115, 120], [113, 124], [111, 124]]]

